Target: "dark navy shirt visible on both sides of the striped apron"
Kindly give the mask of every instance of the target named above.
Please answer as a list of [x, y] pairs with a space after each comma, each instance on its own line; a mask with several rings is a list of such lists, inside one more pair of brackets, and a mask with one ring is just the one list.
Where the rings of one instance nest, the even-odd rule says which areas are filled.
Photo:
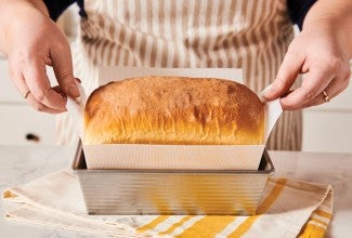
[[[49, 10], [50, 17], [53, 21], [56, 21], [57, 17], [65, 11], [65, 9], [67, 9], [74, 2], [76, 2], [79, 6], [79, 15], [81, 17], [87, 17], [83, 0], [44, 0], [44, 3]], [[315, 2], [316, 0], [287, 0], [289, 17], [294, 24], [298, 25], [300, 29], [302, 29], [303, 21], [308, 11]]]

